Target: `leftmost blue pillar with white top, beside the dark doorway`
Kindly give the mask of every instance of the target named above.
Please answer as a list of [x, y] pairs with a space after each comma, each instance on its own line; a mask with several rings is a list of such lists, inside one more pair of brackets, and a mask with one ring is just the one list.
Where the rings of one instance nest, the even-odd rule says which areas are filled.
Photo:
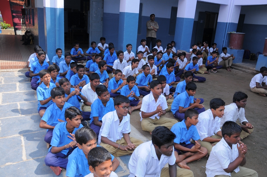
[[56, 48], [64, 55], [64, 0], [44, 0], [44, 36], [51, 63]]

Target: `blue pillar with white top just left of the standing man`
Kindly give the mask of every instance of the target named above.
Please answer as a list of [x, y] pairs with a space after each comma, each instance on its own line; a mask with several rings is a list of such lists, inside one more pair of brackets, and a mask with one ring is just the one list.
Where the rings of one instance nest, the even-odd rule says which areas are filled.
[[126, 45], [132, 44], [135, 53], [138, 29], [140, 0], [120, 0], [118, 50], [126, 51]]

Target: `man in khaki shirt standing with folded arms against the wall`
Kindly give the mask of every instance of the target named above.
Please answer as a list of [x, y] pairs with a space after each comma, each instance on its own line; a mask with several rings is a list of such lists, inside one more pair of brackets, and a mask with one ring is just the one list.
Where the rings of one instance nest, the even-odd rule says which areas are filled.
[[155, 20], [155, 14], [150, 15], [150, 20], [147, 21], [147, 46], [152, 48], [156, 46], [158, 24]]

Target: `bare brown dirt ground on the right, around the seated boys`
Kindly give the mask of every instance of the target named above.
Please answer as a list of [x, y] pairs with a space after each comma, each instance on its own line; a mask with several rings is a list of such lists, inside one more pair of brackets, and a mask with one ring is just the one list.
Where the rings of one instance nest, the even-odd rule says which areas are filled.
[[[201, 75], [201, 74], [197, 74]], [[266, 176], [266, 145], [267, 138], [262, 136], [267, 134], [267, 97], [260, 96], [250, 91], [250, 81], [254, 76], [232, 69], [227, 72], [225, 69], [218, 70], [217, 73], [201, 75], [206, 77], [206, 82], [196, 83], [197, 90], [195, 98], [204, 98], [205, 109], [209, 109], [209, 101], [213, 98], [221, 98], [226, 105], [232, 103], [233, 94], [236, 91], [244, 92], [248, 95], [245, 108], [246, 119], [254, 126], [253, 133], [242, 142], [247, 144], [248, 152], [246, 154], [246, 165], [244, 167], [253, 169], [258, 172], [260, 177]], [[140, 111], [134, 111], [131, 115], [131, 124], [138, 129], [145, 137], [151, 140], [151, 135], [144, 132], [141, 128]], [[167, 112], [165, 117], [173, 118], [171, 112]], [[200, 161], [188, 163], [190, 169], [194, 172], [195, 177], [206, 177], [206, 163], [208, 158], [205, 157]]]

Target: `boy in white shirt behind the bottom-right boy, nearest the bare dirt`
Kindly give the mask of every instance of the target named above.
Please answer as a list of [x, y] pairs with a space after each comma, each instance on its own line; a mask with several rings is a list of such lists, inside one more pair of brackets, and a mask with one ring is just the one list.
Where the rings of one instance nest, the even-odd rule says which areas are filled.
[[224, 115], [221, 118], [220, 127], [224, 124], [225, 121], [234, 121], [236, 122], [241, 128], [242, 132], [240, 134], [240, 138], [244, 139], [248, 135], [250, 135], [254, 127], [251, 123], [246, 120], [245, 117], [245, 110], [246, 107], [246, 100], [247, 94], [243, 92], [236, 92], [233, 97], [233, 103], [225, 106]]

